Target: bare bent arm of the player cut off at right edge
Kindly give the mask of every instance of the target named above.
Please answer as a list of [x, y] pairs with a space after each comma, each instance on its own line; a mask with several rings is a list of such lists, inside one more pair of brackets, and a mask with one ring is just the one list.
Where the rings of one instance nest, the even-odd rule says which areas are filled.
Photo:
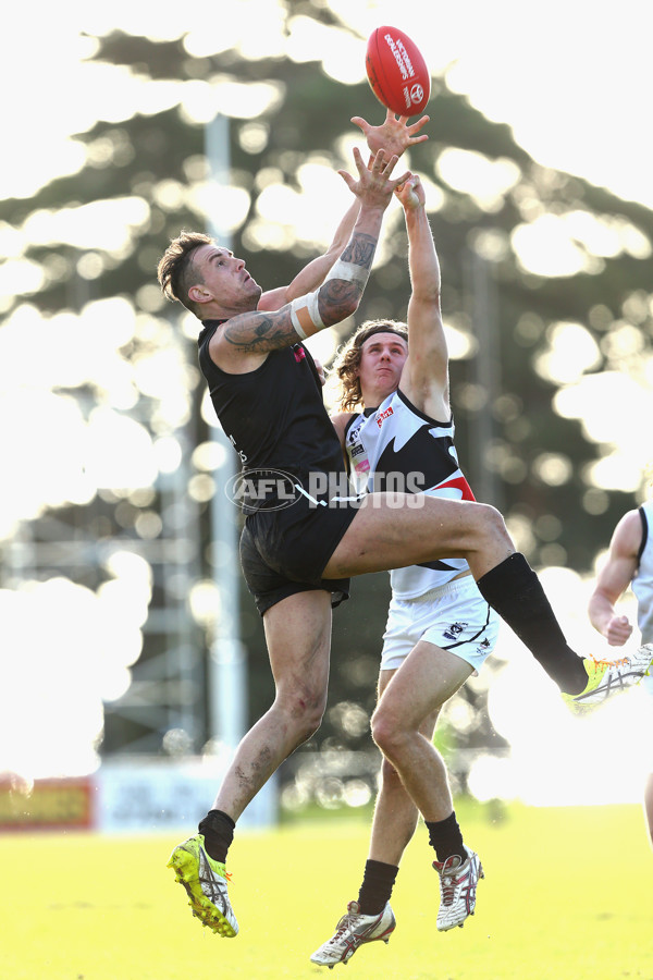
[[618, 615], [615, 607], [637, 572], [641, 541], [639, 511], [628, 511], [614, 530], [607, 561], [590, 597], [590, 622], [611, 647], [623, 647], [632, 633], [628, 616]]

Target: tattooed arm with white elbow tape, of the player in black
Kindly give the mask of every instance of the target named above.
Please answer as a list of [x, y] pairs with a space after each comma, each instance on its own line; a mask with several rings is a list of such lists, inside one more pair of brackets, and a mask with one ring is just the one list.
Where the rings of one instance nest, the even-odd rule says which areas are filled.
[[358, 198], [360, 211], [352, 236], [341, 258], [320, 289], [294, 299], [279, 310], [256, 310], [229, 319], [213, 334], [211, 359], [230, 373], [255, 370], [271, 351], [297, 343], [300, 338], [333, 327], [358, 308], [367, 284], [383, 215], [395, 187], [410, 175], [391, 179], [396, 157], [385, 159], [380, 150], [366, 167], [358, 149], [354, 150], [358, 180], [338, 171]]

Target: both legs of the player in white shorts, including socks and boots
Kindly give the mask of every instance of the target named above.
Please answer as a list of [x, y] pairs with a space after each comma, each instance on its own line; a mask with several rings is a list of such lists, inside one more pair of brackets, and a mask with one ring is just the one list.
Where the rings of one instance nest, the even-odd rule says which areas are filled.
[[[347, 963], [365, 943], [387, 942], [395, 918], [385, 895], [415, 833], [416, 797], [420, 808], [426, 807], [422, 812], [427, 820], [455, 820], [446, 767], [432, 739], [442, 705], [471, 672], [466, 661], [424, 641], [414, 647], [398, 670], [381, 672], [372, 734], [384, 758], [366, 875], [358, 901], [349, 902], [335, 933], [312, 954], [312, 963], [333, 967]], [[409, 772], [411, 767], [415, 772]], [[473, 912], [476, 883], [482, 869], [473, 852], [464, 845], [460, 849], [460, 857], [451, 858], [451, 868], [444, 861], [434, 862], [441, 878], [440, 929], [445, 919], [451, 922], [446, 928], [460, 926]]]

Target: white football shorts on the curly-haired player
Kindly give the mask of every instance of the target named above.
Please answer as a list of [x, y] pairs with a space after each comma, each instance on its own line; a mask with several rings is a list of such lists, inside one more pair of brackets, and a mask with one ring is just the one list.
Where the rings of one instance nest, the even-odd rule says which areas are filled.
[[492, 653], [501, 620], [471, 575], [455, 578], [416, 599], [391, 599], [381, 670], [399, 667], [418, 640], [455, 653], [478, 673]]

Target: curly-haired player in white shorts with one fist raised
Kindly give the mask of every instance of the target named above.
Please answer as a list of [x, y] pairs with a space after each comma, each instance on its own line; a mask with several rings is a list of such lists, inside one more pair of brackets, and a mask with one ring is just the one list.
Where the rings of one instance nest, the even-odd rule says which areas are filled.
[[[392, 320], [359, 328], [337, 360], [345, 382], [343, 407], [370, 407], [332, 420], [358, 492], [423, 492], [472, 501], [454, 446], [440, 269], [424, 192], [414, 176], [396, 193], [409, 240], [408, 328]], [[465, 559], [390, 574], [392, 601], [372, 716], [383, 762], [370, 850], [358, 901], [349, 902], [335, 934], [311, 956], [324, 966], [346, 963], [364, 943], [387, 942], [395, 927], [390, 897], [418, 812], [435, 849], [439, 930], [463, 926], [473, 914], [477, 883], [483, 877], [478, 855], [463, 841], [444, 760], [432, 738], [444, 702], [492, 652], [498, 617]]]

